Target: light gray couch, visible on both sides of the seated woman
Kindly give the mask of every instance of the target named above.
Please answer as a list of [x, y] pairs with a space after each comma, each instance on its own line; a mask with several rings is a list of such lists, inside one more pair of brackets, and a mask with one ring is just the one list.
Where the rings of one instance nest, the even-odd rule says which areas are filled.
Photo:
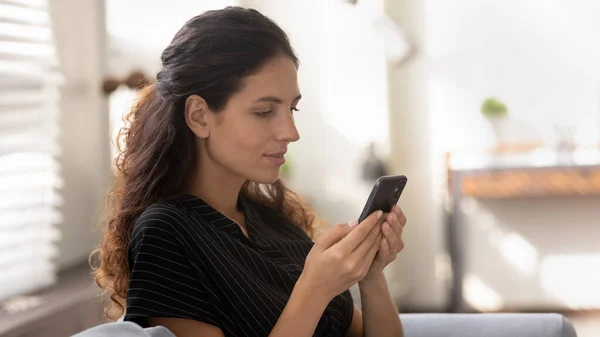
[[[402, 314], [406, 337], [576, 337], [558, 314]], [[164, 327], [134, 323], [99, 325], [74, 337], [175, 337]]]

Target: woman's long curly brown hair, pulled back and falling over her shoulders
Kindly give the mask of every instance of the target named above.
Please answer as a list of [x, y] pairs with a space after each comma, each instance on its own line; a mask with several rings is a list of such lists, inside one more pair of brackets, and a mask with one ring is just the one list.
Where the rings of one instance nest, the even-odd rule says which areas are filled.
[[[185, 123], [185, 100], [200, 95], [219, 112], [245, 76], [280, 55], [298, 66], [283, 30], [259, 12], [239, 7], [190, 19], [162, 53], [156, 83], [139, 93], [117, 136], [106, 227], [101, 245], [90, 255], [96, 283], [109, 298], [108, 319], [116, 320], [125, 311], [128, 244], [135, 221], [153, 203], [184, 193], [197, 160], [194, 134]], [[321, 223], [281, 180], [270, 185], [247, 181], [240, 193], [285, 216], [311, 237]]]

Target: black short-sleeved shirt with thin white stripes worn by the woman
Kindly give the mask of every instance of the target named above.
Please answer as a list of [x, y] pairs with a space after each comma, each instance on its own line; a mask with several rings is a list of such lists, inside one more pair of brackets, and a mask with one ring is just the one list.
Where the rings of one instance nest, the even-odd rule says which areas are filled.
[[[149, 317], [188, 318], [217, 326], [225, 336], [267, 336], [313, 242], [265, 206], [240, 196], [238, 208], [248, 237], [192, 195], [146, 209], [129, 244], [125, 321], [146, 327]], [[353, 307], [349, 291], [335, 297], [314, 336], [345, 336]]]

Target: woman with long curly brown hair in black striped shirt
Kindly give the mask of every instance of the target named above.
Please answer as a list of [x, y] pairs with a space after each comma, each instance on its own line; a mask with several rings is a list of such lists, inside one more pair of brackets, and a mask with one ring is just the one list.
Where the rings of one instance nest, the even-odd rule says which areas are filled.
[[[397, 208], [333, 227], [279, 180], [299, 139], [298, 59], [252, 9], [188, 21], [120, 138], [96, 261], [108, 316], [193, 336], [402, 336], [383, 268]], [[359, 283], [364, 313], [348, 291]]]

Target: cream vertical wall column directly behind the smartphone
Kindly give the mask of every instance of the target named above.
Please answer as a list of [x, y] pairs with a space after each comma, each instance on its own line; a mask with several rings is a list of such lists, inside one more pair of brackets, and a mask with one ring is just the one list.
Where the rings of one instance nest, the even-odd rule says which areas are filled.
[[388, 65], [390, 141], [395, 172], [408, 184], [401, 206], [408, 218], [406, 246], [396, 274], [406, 297], [400, 309], [439, 311], [448, 304], [448, 256], [445, 251], [443, 194], [435, 185], [440, 158], [433, 152], [426, 44], [427, 16], [422, 0], [387, 0], [386, 13], [414, 42], [414, 58]]

